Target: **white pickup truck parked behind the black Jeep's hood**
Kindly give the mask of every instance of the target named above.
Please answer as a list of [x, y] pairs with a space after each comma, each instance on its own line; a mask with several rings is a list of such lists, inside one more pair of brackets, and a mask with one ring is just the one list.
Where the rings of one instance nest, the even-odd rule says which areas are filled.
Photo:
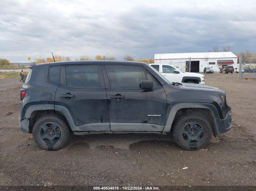
[[181, 72], [177, 68], [168, 64], [149, 64], [160, 72], [171, 82], [205, 84], [204, 75], [192, 72]]

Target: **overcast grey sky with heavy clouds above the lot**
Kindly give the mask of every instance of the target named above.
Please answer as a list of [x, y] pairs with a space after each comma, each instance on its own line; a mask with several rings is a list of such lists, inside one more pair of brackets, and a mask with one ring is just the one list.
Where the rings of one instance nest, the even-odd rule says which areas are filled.
[[0, 58], [256, 53], [256, 1], [0, 1]]

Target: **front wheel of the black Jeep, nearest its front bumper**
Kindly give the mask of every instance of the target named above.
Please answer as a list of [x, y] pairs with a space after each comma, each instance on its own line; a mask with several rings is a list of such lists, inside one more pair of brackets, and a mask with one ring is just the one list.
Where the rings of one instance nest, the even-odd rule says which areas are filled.
[[174, 141], [185, 150], [199, 150], [211, 140], [211, 125], [200, 115], [184, 114], [175, 120], [172, 128]]

